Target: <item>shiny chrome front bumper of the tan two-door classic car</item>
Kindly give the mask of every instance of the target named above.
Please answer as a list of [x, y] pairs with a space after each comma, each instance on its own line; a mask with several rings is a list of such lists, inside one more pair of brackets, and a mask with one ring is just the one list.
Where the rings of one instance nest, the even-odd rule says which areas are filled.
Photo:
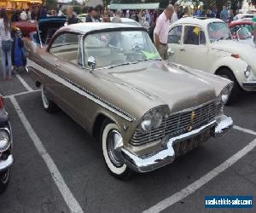
[[163, 167], [166, 164], [171, 164], [174, 161], [176, 153], [174, 151], [173, 146], [176, 143], [186, 141], [191, 138], [195, 138], [195, 136], [201, 135], [203, 132], [206, 132], [207, 130], [210, 131], [213, 137], [218, 137], [224, 135], [232, 127], [232, 118], [227, 117], [225, 115], [221, 115], [211, 123], [206, 124], [197, 130], [192, 130], [183, 135], [170, 138], [163, 145], [163, 150], [160, 150], [158, 152], [150, 153], [143, 156], [137, 156], [126, 150], [124, 147], [121, 147], [119, 150], [119, 154], [123, 159], [124, 164], [131, 168], [131, 170], [137, 172], [148, 172]]

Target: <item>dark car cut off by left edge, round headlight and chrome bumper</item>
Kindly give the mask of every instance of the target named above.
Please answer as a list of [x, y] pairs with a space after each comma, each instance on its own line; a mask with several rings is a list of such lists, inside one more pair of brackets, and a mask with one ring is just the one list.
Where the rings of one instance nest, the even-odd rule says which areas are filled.
[[9, 184], [10, 167], [14, 163], [12, 130], [8, 113], [3, 107], [3, 97], [0, 94], [0, 194]]

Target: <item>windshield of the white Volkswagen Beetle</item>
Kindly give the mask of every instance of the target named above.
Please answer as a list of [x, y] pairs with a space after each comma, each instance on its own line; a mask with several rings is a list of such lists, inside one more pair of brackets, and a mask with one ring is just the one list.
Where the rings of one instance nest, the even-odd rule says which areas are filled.
[[231, 38], [230, 29], [224, 22], [212, 22], [208, 25], [208, 34], [211, 43]]

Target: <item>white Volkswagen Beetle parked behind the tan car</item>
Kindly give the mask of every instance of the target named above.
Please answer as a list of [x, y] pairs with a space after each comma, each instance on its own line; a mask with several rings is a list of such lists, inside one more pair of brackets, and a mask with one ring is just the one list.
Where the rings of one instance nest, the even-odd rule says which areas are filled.
[[230, 29], [218, 19], [183, 18], [170, 26], [169, 60], [234, 82], [227, 104], [241, 90], [256, 91], [256, 51], [232, 39]]

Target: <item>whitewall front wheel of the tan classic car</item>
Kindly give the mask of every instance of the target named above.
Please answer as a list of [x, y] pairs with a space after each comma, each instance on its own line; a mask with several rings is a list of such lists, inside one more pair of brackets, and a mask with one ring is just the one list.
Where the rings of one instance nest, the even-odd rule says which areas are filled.
[[110, 174], [119, 179], [128, 179], [132, 172], [122, 162], [119, 151], [117, 150], [123, 143], [118, 126], [106, 119], [102, 124], [100, 140], [102, 142], [103, 158]]

